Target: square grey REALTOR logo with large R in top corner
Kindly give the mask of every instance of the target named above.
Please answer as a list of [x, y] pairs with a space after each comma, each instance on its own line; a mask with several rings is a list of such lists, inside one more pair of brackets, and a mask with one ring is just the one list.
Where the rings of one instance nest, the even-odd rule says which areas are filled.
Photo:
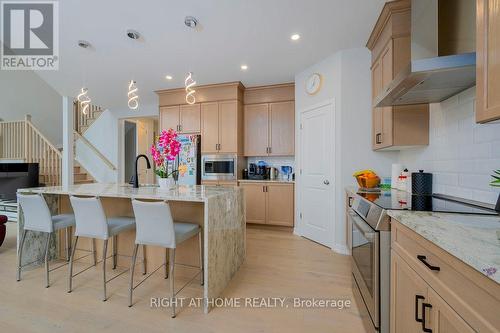
[[1, 1], [1, 69], [59, 68], [57, 1]]

